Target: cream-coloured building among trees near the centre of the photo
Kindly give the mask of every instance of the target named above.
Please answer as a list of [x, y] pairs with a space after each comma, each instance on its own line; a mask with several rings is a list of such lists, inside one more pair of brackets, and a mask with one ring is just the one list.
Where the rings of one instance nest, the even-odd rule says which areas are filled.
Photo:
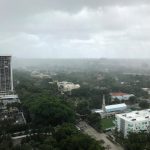
[[67, 82], [67, 81], [57, 82], [57, 86], [58, 86], [58, 89], [62, 92], [70, 92], [73, 89], [80, 88], [79, 84], [74, 84], [72, 82]]

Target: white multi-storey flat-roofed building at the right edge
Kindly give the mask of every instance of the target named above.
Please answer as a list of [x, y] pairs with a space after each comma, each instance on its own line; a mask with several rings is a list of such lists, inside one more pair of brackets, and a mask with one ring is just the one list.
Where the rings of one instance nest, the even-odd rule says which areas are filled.
[[150, 129], [150, 109], [116, 114], [116, 127], [124, 137], [129, 132], [148, 131]]

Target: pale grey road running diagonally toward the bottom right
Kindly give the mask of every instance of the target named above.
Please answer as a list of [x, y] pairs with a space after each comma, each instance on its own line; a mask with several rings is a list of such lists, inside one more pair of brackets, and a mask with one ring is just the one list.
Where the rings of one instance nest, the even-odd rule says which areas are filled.
[[107, 136], [106, 134], [97, 132], [94, 128], [92, 128], [86, 122], [81, 121], [78, 124], [78, 126], [83, 130], [84, 133], [90, 135], [97, 141], [103, 140], [105, 142], [104, 146], [109, 147], [108, 148], [109, 150], [123, 150], [123, 148], [120, 145], [116, 145], [116, 144], [112, 143], [111, 141], [109, 141], [106, 138], [106, 136]]

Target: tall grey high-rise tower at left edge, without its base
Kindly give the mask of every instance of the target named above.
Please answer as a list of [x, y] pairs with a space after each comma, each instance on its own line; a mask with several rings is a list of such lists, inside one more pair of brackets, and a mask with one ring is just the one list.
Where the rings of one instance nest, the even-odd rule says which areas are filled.
[[0, 56], [0, 95], [13, 92], [11, 56]]

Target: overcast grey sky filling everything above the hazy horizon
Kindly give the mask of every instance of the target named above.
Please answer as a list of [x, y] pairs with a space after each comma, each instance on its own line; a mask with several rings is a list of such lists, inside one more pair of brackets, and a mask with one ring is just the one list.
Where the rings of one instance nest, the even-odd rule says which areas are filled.
[[0, 0], [0, 54], [150, 58], [150, 0]]

